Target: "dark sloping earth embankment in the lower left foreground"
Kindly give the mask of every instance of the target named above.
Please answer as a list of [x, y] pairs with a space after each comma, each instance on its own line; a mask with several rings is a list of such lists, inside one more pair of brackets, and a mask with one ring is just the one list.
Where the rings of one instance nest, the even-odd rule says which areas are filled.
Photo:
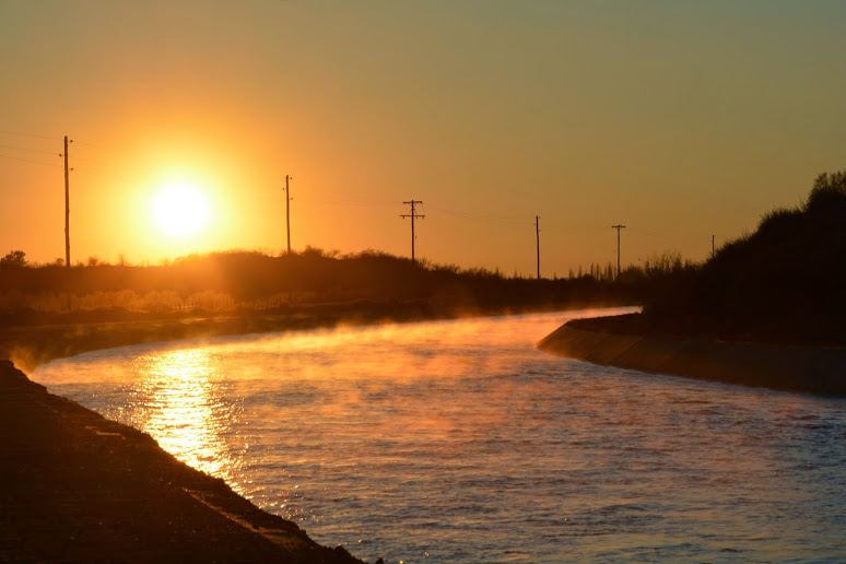
[[0, 561], [353, 563], [0, 361]]

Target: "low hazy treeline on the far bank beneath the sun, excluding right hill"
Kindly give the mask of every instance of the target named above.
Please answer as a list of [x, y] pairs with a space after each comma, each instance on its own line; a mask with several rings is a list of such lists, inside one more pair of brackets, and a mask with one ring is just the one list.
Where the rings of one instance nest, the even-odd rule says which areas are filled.
[[[284, 314], [304, 307], [401, 307], [424, 315], [527, 310], [641, 303], [653, 278], [681, 259], [655, 259], [653, 270], [536, 280], [482, 268], [412, 262], [379, 251], [339, 256], [307, 248], [189, 256], [160, 266], [28, 266], [13, 251], [0, 259], [0, 314], [9, 324], [48, 322], [74, 314], [110, 319], [145, 316]], [[659, 267], [663, 265], [663, 267]], [[591, 268], [601, 274], [601, 269]], [[83, 316], [84, 317], [84, 316]]]

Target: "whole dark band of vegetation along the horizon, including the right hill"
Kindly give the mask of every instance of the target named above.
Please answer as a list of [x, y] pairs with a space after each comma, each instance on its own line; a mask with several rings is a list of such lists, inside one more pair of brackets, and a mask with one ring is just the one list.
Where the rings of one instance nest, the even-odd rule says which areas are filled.
[[[0, 326], [302, 310], [386, 312], [403, 319], [460, 313], [645, 304], [602, 321], [630, 332], [846, 344], [846, 171], [820, 175], [806, 202], [764, 214], [754, 233], [703, 265], [650, 257], [619, 277], [591, 265], [564, 279], [413, 262], [380, 251], [340, 256], [308, 247], [189, 256], [158, 266], [28, 265], [0, 258]], [[583, 321], [589, 322], [589, 321]]]

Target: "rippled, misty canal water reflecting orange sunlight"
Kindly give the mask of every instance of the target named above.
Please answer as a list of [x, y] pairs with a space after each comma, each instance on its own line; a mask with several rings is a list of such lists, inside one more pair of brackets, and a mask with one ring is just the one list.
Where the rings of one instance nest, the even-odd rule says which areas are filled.
[[33, 379], [364, 559], [846, 560], [846, 401], [534, 350], [573, 315], [129, 346]]

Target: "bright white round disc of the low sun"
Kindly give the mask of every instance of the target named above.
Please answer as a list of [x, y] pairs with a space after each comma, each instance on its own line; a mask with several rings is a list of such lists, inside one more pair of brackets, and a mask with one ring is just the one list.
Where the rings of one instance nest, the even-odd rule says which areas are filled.
[[171, 184], [156, 195], [153, 216], [158, 227], [168, 235], [196, 235], [209, 219], [209, 201], [189, 184]]

